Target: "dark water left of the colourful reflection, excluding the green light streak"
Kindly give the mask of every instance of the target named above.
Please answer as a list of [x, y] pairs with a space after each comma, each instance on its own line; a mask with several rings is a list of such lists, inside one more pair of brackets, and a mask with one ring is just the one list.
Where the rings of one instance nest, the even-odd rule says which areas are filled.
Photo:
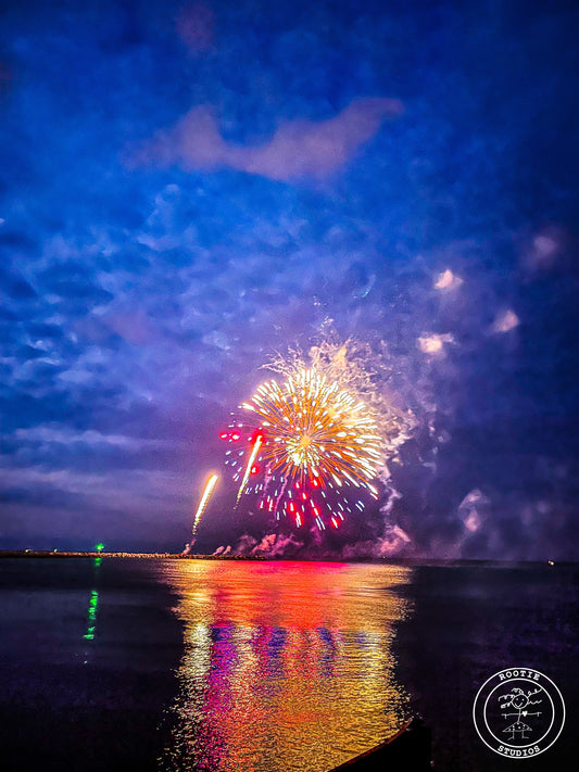
[[[155, 770], [182, 649], [175, 597], [147, 573], [93, 560], [22, 565], [0, 568], [0, 768]], [[106, 603], [95, 634], [97, 586]]]

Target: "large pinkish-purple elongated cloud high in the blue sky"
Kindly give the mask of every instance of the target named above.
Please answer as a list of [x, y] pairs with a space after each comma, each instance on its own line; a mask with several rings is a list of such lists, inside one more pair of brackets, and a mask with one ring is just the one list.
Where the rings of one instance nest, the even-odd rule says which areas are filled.
[[386, 118], [402, 112], [402, 103], [394, 99], [358, 99], [332, 118], [288, 121], [268, 142], [243, 147], [226, 142], [213, 110], [198, 105], [173, 128], [160, 131], [131, 160], [178, 164], [190, 170], [234, 168], [280, 181], [325, 179], [348, 164]]

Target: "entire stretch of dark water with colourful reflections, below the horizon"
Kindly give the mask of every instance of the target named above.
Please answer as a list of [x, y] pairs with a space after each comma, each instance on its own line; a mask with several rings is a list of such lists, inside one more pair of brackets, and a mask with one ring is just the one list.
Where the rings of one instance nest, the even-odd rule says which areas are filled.
[[567, 705], [525, 770], [568, 768], [578, 599], [565, 566], [3, 559], [1, 768], [325, 772], [421, 714], [436, 769], [513, 769], [471, 719], [506, 667]]

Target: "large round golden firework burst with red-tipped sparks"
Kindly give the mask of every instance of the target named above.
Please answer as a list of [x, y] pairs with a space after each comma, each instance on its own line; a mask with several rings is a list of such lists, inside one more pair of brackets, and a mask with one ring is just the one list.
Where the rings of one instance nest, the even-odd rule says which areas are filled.
[[238, 503], [254, 494], [277, 519], [325, 530], [353, 508], [363, 511], [364, 497], [378, 497], [374, 482], [408, 420], [383, 408], [367, 371], [349, 362], [348, 344], [314, 349], [311, 357], [309, 367], [297, 355], [273, 363], [285, 380], [260, 385], [221, 436], [234, 443], [226, 464]]

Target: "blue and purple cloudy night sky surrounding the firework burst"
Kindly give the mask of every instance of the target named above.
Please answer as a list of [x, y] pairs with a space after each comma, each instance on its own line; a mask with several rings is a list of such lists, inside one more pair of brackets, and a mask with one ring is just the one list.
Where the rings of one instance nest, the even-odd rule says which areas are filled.
[[[4, 2], [0, 548], [180, 550], [261, 366], [331, 331], [418, 426], [375, 511], [277, 554], [578, 559], [578, 33], [572, 2]], [[231, 493], [200, 549], [276, 530]]]

